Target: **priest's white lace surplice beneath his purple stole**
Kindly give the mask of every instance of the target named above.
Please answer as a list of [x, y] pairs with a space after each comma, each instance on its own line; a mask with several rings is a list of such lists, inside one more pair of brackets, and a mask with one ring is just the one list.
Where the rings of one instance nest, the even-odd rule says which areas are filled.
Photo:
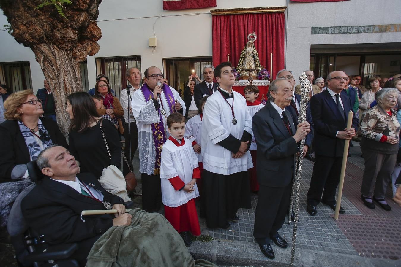
[[[178, 92], [170, 86], [170, 89], [174, 95], [174, 99], [180, 102], [183, 112], [185, 114], [185, 102], [180, 98]], [[163, 107], [167, 111], [166, 117], [171, 114], [170, 108], [168, 108], [168, 102], [164, 92], [160, 94], [160, 101], [163, 101]], [[139, 151], [139, 171], [140, 173], [146, 173], [153, 175], [155, 162], [156, 162], [156, 150], [154, 147], [153, 133], [151, 124], [159, 122], [159, 114], [154, 108], [153, 100], [145, 100], [142, 90], [138, 89], [132, 96], [132, 114], [135, 117], [136, 125], [138, 126], [138, 151]], [[160, 104], [160, 110], [162, 104]], [[170, 136], [167, 130], [166, 118], [162, 115], [164, 132], [166, 133], [166, 139]]]

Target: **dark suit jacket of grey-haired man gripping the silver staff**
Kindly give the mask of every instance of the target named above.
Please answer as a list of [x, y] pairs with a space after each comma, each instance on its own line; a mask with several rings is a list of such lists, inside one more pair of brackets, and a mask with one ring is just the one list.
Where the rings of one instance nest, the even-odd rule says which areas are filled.
[[[287, 117], [294, 135], [294, 121]], [[270, 102], [253, 115], [252, 129], [257, 145], [257, 181], [268, 187], [287, 186], [294, 175], [294, 154], [300, 149]]]

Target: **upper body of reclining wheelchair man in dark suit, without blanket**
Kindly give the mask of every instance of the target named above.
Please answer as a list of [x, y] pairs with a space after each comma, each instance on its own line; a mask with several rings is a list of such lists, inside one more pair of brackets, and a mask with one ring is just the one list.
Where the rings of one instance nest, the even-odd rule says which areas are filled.
[[[47, 147], [36, 163], [47, 177], [22, 199], [22, 214], [47, 243], [78, 243], [71, 259], [85, 265], [95, 241], [112, 226], [130, 225], [132, 215], [125, 213], [123, 200], [105, 191], [96, 177], [78, 173], [74, 157], [64, 147]], [[83, 210], [106, 209], [105, 201], [117, 209], [117, 217], [103, 214], [81, 219]]]

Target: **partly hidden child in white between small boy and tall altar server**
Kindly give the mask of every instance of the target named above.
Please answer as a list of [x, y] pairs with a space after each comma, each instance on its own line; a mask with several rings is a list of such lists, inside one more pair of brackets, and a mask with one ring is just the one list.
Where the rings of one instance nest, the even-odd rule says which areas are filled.
[[[199, 170], [201, 171], [201, 177], [203, 172], [203, 160], [201, 154], [201, 142], [202, 142], [202, 118], [203, 108], [205, 108], [206, 100], [209, 96], [204, 96], [199, 101], [198, 114], [193, 116], [185, 124], [185, 137], [192, 143], [192, 147], [195, 151], [196, 157], [198, 157]], [[202, 180], [196, 182], [199, 193], [202, 191]]]

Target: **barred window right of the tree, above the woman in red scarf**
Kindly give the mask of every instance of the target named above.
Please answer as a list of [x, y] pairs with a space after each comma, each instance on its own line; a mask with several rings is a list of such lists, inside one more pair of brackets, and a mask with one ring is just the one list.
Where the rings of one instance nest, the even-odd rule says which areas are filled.
[[120, 98], [121, 90], [127, 87], [126, 70], [131, 67], [141, 71], [140, 56], [96, 58], [96, 75], [104, 74], [109, 78], [110, 87], [114, 90], [117, 98]]

